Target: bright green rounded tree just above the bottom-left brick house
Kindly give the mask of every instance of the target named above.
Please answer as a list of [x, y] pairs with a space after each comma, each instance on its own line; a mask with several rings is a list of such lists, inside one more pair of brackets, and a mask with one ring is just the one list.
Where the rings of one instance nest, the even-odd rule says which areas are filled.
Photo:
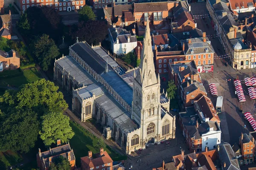
[[57, 139], [68, 142], [74, 136], [69, 125], [69, 117], [59, 112], [45, 113], [42, 116], [42, 128], [39, 134], [46, 146], [56, 143]]

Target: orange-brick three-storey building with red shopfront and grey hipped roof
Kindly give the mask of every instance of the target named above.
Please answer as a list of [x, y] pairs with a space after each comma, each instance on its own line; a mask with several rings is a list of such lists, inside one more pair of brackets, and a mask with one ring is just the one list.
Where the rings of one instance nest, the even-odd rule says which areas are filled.
[[194, 60], [199, 73], [213, 71], [214, 49], [203, 33], [201, 38], [191, 38], [181, 41], [186, 60]]

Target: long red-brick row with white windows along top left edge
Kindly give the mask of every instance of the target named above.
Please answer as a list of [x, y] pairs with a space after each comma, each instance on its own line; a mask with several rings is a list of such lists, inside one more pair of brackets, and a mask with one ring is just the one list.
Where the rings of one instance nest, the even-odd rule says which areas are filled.
[[32, 6], [49, 6], [57, 11], [72, 11], [81, 9], [85, 5], [85, 0], [15, 0], [21, 11], [25, 11]]

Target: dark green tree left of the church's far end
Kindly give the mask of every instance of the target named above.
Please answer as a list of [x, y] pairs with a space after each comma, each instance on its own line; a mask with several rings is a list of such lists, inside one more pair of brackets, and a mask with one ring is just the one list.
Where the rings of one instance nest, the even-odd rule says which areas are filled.
[[37, 63], [44, 71], [48, 70], [52, 60], [60, 54], [55, 42], [47, 34], [37, 37], [32, 43], [32, 49]]

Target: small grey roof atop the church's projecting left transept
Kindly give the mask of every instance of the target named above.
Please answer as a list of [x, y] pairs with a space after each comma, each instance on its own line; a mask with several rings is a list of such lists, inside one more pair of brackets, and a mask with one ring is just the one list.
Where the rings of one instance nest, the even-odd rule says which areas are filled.
[[92, 97], [93, 93], [95, 94], [95, 96], [99, 96], [106, 92], [108, 92], [107, 89], [104, 87], [104, 85], [100, 83], [89, 85], [85, 88], [81, 88], [78, 90], [78, 94], [81, 97], [81, 99]]

